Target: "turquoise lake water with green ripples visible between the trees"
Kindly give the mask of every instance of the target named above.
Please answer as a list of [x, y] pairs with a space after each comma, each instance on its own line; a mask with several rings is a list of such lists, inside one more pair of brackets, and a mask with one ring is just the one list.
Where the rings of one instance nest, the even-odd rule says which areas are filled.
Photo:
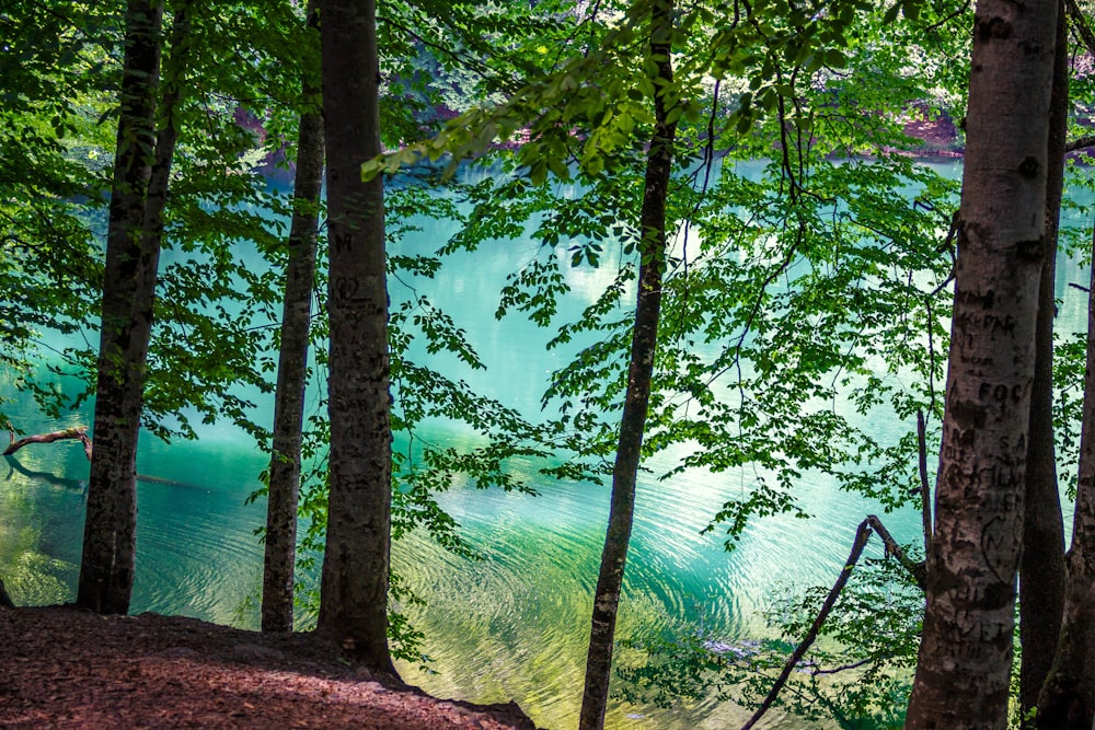
[[[404, 253], [431, 251], [454, 232], [451, 223], [428, 223], [405, 240]], [[505, 276], [535, 254], [539, 243], [516, 241], [488, 252], [459, 254], [433, 281], [392, 282], [393, 302], [414, 287], [459, 324], [487, 363], [461, 372], [473, 389], [530, 414], [539, 410], [548, 373], [565, 354], [544, 352], [550, 333], [519, 317], [497, 322], [498, 289]], [[566, 257], [565, 246], [558, 255]], [[592, 301], [611, 279], [600, 270], [567, 271], [573, 288], [566, 314]], [[1062, 265], [1059, 296], [1062, 328], [1083, 323], [1085, 302], [1067, 282], [1086, 274]], [[452, 367], [438, 360], [437, 367]], [[13, 393], [0, 380], [0, 393]], [[314, 398], [313, 398], [314, 401]], [[269, 402], [260, 402], [260, 409]], [[4, 406], [20, 429], [50, 431], [90, 425], [91, 410], [64, 422], [44, 418], [16, 397]], [[912, 424], [879, 419], [872, 428], [896, 439]], [[164, 444], [142, 438], [138, 472], [175, 483], [142, 482], [138, 489], [138, 565], [132, 611], [196, 616], [255, 626], [249, 607], [258, 593], [262, 549], [254, 530], [265, 522], [265, 503], [245, 505], [266, 464], [249, 437], [230, 427], [200, 426], [200, 440]], [[428, 437], [460, 442], [466, 434], [445, 424]], [[399, 444], [396, 444], [399, 448]], [[680, 451], [658, 456], [653, 473]], [[0, 464], [0, 468], [5, 464]], [[608, 488], [545, 482], [533, 464], [518, 463], [540, 490], [538, 497], [483, 491], [456, 485], [440, 499], [485, 559], [469, 561], [412, 536], [393, 559], [429, 602], [412, 610], [427, 636], [436, 674], [403, 667], [404, 679], [438, 695], [474, 702], [516, 699], [541, 726], [573, 727], [580, 702], [590, 595], [608, 512]], [[21, 603], [70, 601], [74, 596], [83, 520], [87, 461], [76, 442], [34, 445], [9, 460], [0, 476], [0, 570]], [[692, 471], [670, 482], [641, 478], [636, 525], [627, 566], [627, 599], [621, 631], [665, 615], [703, 616], [728, 638], [763, 630], [758, 612], [773, 594], [792, 587], [829, 584], [848, 555], [852, 535], [879, 506], [839, 491], [825, 477], [807, 474], [799, 485], [807, 521], [779, 515], [754, 521], [739, 547], [727, 554], [723, 538], [701, 535], [719, 506], [747, 493], [751, 474]], [[920, 514], [885, 517], [900, 541], [915, 541]], [[880, 555], [872, 544], [868, 554]], [[673, 711], [623, 705], [610, 711], [618, 728], [716, 728], [748, 712], [723, 705]], [[796, 727], [776, 721], [771, 727]]]

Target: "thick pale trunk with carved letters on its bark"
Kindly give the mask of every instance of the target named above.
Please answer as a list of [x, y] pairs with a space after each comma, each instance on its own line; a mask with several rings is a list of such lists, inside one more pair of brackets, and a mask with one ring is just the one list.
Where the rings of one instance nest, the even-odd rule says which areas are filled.
[[982, 0], [936, 490], [906, 728], [1007, 725], [1058, 2]]

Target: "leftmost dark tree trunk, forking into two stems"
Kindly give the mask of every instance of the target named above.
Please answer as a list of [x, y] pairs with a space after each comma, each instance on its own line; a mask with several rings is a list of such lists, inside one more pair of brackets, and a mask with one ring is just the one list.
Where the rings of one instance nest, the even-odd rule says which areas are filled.
[[[163, 209], [178, 126], [176, 105], [188, 49], [189, 3], [172, 23], [165, 93], [157, 113], [162, 2], [126, 9], [126, 60], [111, 194], [106, 276], [83, 558], [77, 602], [126, 613], [132, 592], [137, 526], [137, 437], [152, 327]], [[159, 125], [157, 125], [159, 120]], [[157, 131], [159, 126], [159, 131]]]

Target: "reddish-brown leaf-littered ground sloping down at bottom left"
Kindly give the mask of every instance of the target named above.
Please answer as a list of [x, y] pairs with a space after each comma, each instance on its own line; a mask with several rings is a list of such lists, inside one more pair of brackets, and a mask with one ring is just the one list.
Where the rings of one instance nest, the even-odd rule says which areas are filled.
[[0, 609], [0, 727], [534, 730], [514, 703], [436, 699], [307, 634], [71, 606]]

